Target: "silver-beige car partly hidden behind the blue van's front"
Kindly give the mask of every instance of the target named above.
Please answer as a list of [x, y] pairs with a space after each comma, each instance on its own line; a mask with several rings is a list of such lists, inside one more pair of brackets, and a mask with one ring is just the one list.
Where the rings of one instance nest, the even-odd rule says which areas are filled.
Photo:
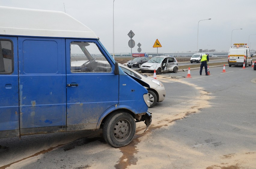
[[148, 83], [148, 85], [150, 86], [150, 88], [147, 88], [149, 101], [150, 101], [149, 107], [153, 107], [157, 102], [162, 102], [164, 100], [166, 91], [165, 91], [165, 87], [163, 86], [163, 83], [161, 83], [159, 80], [156, 80], [152, 77], [148, 77], [146, 75], [139, 74], [138, 72], [136, 72], [133, 69], [130, 69], [124, 65], [119, 64], [119, 66], [127, 74], [130, 74], [130, 75], [137, 77], [138, 79], [144, 81], [145, 83]]

